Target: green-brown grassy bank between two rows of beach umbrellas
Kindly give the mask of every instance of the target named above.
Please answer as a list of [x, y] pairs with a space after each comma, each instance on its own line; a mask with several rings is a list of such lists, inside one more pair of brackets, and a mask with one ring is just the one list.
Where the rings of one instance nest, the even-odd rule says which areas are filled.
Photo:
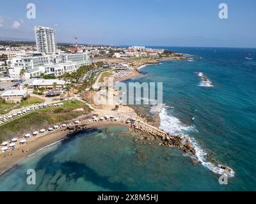
[[[72, 120], [79, 115], [87, 115], [90, 108], [80, 101], [65, 101], [62, 107], [48, 107], [17, 117], [0, 125], [0, 142], [25, 133], [49, 128], [54, 124]], [[83, 111], [75, 111], [84, 108]]]

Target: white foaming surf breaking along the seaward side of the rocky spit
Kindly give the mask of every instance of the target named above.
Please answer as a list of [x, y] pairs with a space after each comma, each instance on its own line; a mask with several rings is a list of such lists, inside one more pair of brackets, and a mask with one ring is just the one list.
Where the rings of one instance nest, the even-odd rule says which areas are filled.
[[173, 136], [182, 136], [184, 138], [188, 138], [189, 142], [193, 145], [195, 148], [195, 156], [194, 159], [199, 161], [205, 168], [208, 168], [213, 173], [216, 173], [218, 175], [227, 175], [227, 177], [234, 177], [235, 173], [234, 171], [230, 169], [230, 172], [227, 173], [227, 170], [221, 168], [223, 165], [221, 164], [212, 164], [211, 162], [207, 161], [207, 153], [198, 145], [196, 140], [194, 138], [191, 138], [188, 133], [191, 131], [197, 132], [195, 126], [188, 126], [186, 124], [183, 124], [179, 119], [176, 117], [173, 117], [172, 115], [168, 114], [166, 112], [166, 108], [163, 108], [159, 112], [160, 117], [160, 129], [163, 129], [167, 133]]

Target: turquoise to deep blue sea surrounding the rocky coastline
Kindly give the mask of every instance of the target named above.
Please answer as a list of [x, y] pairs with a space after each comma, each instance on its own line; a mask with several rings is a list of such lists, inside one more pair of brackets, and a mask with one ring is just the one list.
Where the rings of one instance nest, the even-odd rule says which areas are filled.
[[[128, 82], [163, 82], [160, 128], [191, 138], [201, 163], [178, 149], [136, 143], [127, 128], [102, 128], [25, 159], [0, 177], [0, 190], [255, 191], [256, 49], [168, 49], [191, 59], [147, 66]], [[209, 163], [234, 170], [227, 185]], [[29, 186], [31, 168], [36, 185]]]

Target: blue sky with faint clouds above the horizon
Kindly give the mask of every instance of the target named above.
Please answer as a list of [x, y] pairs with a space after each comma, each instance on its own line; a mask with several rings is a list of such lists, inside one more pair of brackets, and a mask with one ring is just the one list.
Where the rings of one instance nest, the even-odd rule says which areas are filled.
[[[27, 18], [27, 4], [36, 18]], [[219, 18], [219, 4], [228, 18]], [[35, 41], [33, 27], [54, 27], [56, 41], [103, 45], [256, 47], [255, 0], [1, 1], [0, 39]]]

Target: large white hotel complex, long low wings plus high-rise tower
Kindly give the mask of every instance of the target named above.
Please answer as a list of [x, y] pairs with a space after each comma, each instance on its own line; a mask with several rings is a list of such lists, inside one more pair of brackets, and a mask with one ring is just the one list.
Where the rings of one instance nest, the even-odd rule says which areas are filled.
[[[40, 26], [36, 26], [40, 27]], [[43, 27], [45, 28], [45, 27]], [[50, 29], [50, 28], [47, 28]], [[53, 31], [53, 29], [52, 29]], [[37, 36], [37, 30], [35, 33]], [[40, 31], [41, 33], [41, 31]], [[40, 36], [44, 36], [44, 31]], [[54, 36], [54, 35], [53, 35]], [[39, 37], [38, 37], [39, 38]], [[45, 38], [48, 38], [47, 36]], [[42, 37], [44, 39], [44, 37]], [[56, 77], [63, 75], [64, 73], [72, 73], [81, 66], [92, 64], [92, 61], [88, 58], [88, 52], [81, 52], [76, 54], [68, 54], [60, 52], [55, 54], [55, 45], [53, 37], [50, 40], [36, 39], [36, 47], [39, 52], [28, 52], [24, 55], [17, 55], [11, 59], [8, 63], [10, 64], [10, 77], [19, 78], [20, 70], [25, 69], [25, 78], [40, 77], [42, 73], [45, 75], [54, 75]], [[52, 42], [50, 42], [52, 40]], [[50, 43], [48, 46], [48, 43]], [[42, 52], [44, 50], [44, 52]], [[47, 53], [54, 54], [47, 54]]]

